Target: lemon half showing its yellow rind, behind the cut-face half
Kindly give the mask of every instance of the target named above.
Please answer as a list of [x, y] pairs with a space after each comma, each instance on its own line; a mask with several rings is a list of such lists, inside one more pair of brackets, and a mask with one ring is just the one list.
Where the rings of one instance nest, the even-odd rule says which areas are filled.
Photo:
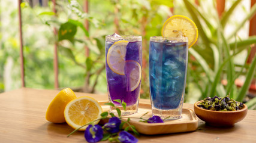
[[53, 123], [65, 123], [64, 109], [76, 95], [70, 88], [65, 88], [50, 102], [46, 111], [46, 120]]

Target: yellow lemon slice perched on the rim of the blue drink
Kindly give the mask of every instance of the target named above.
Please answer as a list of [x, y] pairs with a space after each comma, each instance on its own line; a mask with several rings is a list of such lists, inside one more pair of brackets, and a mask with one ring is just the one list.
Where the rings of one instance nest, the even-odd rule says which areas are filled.
[[162, 26], [162, 36], [164, 38], [188, 38], [190, 48], [197, 41], [198, 30], [195, 23], [183, 15], [173, 15], [168, 18]]

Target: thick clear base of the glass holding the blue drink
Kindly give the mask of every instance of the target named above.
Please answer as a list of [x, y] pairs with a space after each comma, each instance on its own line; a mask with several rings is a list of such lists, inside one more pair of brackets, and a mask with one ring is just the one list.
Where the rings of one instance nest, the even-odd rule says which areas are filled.
[[152, 109], [153, 116], [159, 116], [161, 119], [174, 120], [180, 119], [182, 116], [182, 108], [177, 108], [173, 110], [161, 110], [161, 109]]

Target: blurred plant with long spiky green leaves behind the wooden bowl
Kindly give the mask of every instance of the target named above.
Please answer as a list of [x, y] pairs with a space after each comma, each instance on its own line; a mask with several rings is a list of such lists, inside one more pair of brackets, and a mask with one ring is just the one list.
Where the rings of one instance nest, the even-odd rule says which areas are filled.
[[[201, 96], [198, 96], [196, 101], [206, 97], [214, 97], [215, 95], [225, 97], [230, 94], [231, 98], [243, 102], [252, 79], [255, 78], [256, 56], [254, 56], [252, 63], [249, 65], [246, 63], [246, 59], [251, 51], [251, 45], [255, 44], [256, 36], [239, 38], [237, 32], [246, 21], [256, 14], [256, 4], [246, 17], [242, 18], [242, 22], [239, 25], [232, 29], [231, 32], [225, 33], [231, 14], [233, 14], [241, 0], [232, 2], [233, 4], [227, 11], [224, 11], [221, 18], [216, 13], [215, 1], [212, 1], [212, 7], [207, 8], [215, 11], [215, 14], [212, 15], [207, 14], [203, 10], [203, 6], [195, 5], [188, 0], [183, 0], [183, 2], [192, 20], [197, 25], [199, 33], [197, 44], [189, 49], [189, 54], [191, 55], [189, 67], [191, 69], [189, 69], [187, 76], [188, 83], [194, 83], [195, 86], [193, 88], [197, 88], [200, 91]], [[200, 1], [200, 5], [204, 5], [203, 2], [205, 1]], [[245, 63], [242, 66], [235, 64], [234, 57], [244, 50], [248, 51]], [[240, 76], [245, 77], [245, 83], [241, 88], [237, 88], [234, 81]], [[223, 85], [222, 80], [227, 80], [227, 85]], [[188, 91], [190, 90], [188, 89]], [[256, 104], [255, 100], [251, 100], [246, 104], [252, 104], [250, 103], [252, 101]], [[251, 106], [248, 107], [250, 108]]]

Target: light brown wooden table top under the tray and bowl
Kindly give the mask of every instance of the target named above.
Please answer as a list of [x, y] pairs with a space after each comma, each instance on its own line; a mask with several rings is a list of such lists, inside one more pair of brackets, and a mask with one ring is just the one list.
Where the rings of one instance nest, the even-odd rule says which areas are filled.
[[[58, 92], [21, 88], [0, 94], [0, 142], [86, 142], [83, 132], [67, 138], [73, 131], [70, 126], [50, 123], [45, 119], [47, 107]], [[78, 92], [76, 95], [107, 100], [107, 95]], [[192, 108], [192, 104], [184, 104], [184, 107]], [[256, 142], [256, 111], [248, 110], [245, 119], [232, 128], [213, 128], [200, 121], [195, 132], [141, 135], [138, 142]]]

